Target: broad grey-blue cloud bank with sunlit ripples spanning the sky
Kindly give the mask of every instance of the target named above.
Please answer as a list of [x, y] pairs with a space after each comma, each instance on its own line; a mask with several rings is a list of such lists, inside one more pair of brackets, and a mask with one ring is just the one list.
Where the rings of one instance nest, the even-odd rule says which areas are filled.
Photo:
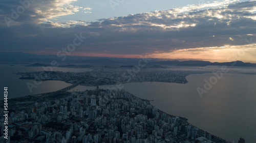
[[[243, 47], [251, 44], [245, 39], [256, 39], [256, 1], [216, 1], [90, 23], [50, 20], [77, 12], [80, 7], [72, 6], [74, 1], [38, 2], [33, 4], [38, 7], [31, 4], [26, 14], [20, 15], [15, 20], [17, 23], [8, 29], [3, 17], [10, 16], [10, 8], [17, 7], [18, 3], [3, 2], [5, 4], [0, 4], [5, 9], [0, 16], [0, 44], [8, 47], [8, 51], [57, 52], [80, 32], [88, 38], [76, 48], [76, 52], [113, 55], [160, 54], [225, 45]], [[90, 11], [91, 8], [83, 10]]]

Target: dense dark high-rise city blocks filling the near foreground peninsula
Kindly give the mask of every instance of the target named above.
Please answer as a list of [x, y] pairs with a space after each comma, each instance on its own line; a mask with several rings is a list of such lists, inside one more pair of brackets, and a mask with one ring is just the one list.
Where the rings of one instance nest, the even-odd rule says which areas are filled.
[[8, 122], [10, 138], [0, 142], [227, 142], [123, 90], [10, 103]]

